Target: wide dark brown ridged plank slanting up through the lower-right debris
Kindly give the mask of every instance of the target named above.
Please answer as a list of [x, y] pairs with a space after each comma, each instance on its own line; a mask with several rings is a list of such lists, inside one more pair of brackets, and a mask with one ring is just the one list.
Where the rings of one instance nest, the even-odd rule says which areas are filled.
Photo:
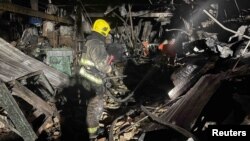
[[[202, 109], [220, 86], [225, 74], [205, 75], [160, 118], [191, 130]], [[162, 126], [151, 124], [146, 130], [159, 130]]]

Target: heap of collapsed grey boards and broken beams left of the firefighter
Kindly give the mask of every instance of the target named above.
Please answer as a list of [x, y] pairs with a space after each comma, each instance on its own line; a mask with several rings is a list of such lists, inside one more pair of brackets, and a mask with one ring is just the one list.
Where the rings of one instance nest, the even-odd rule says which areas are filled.
[[24, 140], [36, 140], [37, 134], [43, 132], [51, 138], [60, 137], [55, 89], [67, 83], [67, 75], [27, 56], [3, 39], [0, 42], [1, 129]]

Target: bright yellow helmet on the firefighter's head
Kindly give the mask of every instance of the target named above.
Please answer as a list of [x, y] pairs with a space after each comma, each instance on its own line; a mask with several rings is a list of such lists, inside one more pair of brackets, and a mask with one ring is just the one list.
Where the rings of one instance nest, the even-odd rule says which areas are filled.
[[107, 37], [110, 31], [110, 26], [108, 22], [103, 19], [98, 19], [95, 21], [92, 30], [102, 34], [103, 36]]

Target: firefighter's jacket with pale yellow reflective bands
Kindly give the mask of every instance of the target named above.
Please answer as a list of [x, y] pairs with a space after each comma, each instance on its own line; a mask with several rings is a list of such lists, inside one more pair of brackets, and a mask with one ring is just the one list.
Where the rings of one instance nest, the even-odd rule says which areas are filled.
[[89, 81], [101, 85], [102, 77], [111, 72], [111, 57], [105, 46], [105, 37], [97, 32], [92, 32], [87, 37], [86, 50], [82, 54], [80, 75]]

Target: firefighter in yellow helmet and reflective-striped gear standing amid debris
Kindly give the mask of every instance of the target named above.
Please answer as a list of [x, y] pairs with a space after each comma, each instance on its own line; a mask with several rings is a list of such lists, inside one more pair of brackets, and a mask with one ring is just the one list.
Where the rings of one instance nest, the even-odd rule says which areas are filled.
[[103, 19], [97, 19], [92, 27], [92, 33], [87, 37], [84, 51], [80, 59], [79, 74], [84, 78], [85, 88], [94, 90], [95, 96], [89, 100], [87, 108], [88, 132], [96, 134], [99, 128], [99, 118], [103, 111], [103, 95], [105, 93], [105, 78], [112, 72], [112, 55], [106, 51], [105, 39], [110, 32], [110, 25]]

